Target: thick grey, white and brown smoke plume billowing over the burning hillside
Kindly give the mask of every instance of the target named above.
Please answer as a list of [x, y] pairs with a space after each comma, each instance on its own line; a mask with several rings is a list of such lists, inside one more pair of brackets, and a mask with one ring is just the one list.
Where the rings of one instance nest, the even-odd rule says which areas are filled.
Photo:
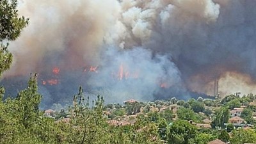
[[45, 103], [63, 100], [79, 84], [109, 102], [212, 95], [214, 79], [222, 95], [250, 93], [255, 6], [254, 0], [20, 0], [30, 24], [11, 44], [15, 61], [3, 81], [30, 72], [44, 83], [58, 79], [40, 86]]

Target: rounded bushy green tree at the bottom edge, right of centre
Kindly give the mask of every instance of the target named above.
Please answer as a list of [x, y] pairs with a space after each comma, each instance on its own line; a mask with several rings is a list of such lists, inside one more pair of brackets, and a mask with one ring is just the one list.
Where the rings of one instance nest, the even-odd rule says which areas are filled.
[[170, 125], [168, 132], [168, 143], [188, 144], [189, 140], [195, 138], [196, 127], [186, 120], [177, 120]]

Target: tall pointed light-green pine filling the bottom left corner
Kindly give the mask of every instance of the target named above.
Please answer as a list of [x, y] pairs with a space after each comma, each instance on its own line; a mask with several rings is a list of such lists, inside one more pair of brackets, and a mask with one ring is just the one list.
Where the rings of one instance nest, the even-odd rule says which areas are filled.
[[1, 143], [57, 143], [54, 119], [44, 117], [38, 109], [41, 97], [35, 75], [16, 98], [0, 102], [4, 111], [0, 112]]

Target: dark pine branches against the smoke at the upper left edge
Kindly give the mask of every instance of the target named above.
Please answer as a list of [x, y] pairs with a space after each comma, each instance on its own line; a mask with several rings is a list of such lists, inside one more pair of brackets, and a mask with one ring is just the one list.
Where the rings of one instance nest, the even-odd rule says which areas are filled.
[[0, 76], [12, 63], [8, 43], [4, 44], [3, 41], [16, 40], [27, 25], [28, 19], [18, 16], [17, 0], [0, 1]]

